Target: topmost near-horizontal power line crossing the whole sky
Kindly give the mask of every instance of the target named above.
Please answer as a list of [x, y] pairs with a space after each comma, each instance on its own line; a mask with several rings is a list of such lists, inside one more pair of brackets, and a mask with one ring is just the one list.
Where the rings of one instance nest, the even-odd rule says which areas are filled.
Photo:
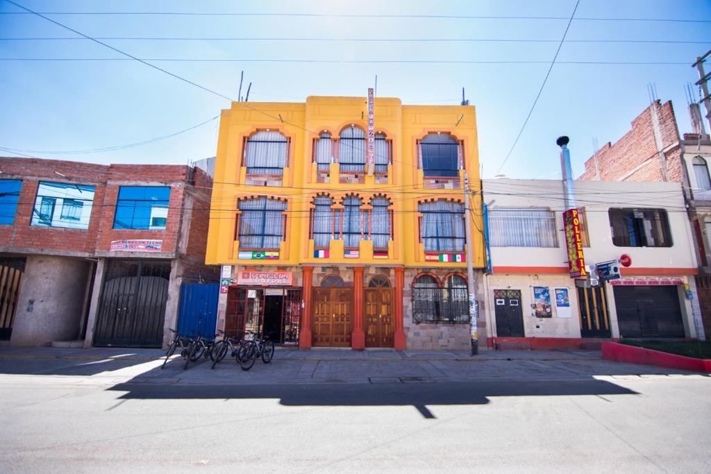
[[[7, 0], [9, 1], [9, 0]], [[12, 1], [9, 3], [19, 6]], [[23, 8], [22, 6], [19, 6]], [[29, 12], [29, 11], [28, 11]], [[24, 11], [3, 11], [0, 15], [26, 15]], [[273, 12], [193, 12], [193, 11], [40, 11], [29, 13], [39, 15], [86, 15], [86, 16], [274, 16], [304, 18], [439, 18], [450, 20], [568, 20], [567, 16], [506, 16], [506, 15], [436, 15], [436, 14], [314, 14], [314, 13], [273, 13]], [[671, 23], [711, 23], [711, 20], [688, 18], [603, 18], [579, 17], [575, 21], [651, 21]]]

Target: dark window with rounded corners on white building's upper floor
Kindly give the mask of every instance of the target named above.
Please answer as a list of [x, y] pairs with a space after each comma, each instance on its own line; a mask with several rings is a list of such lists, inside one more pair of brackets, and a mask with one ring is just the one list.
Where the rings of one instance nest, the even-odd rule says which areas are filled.
[[663, 209], [611, 208], [612, 243], [617, 247], [671, 247], [671, 231]]

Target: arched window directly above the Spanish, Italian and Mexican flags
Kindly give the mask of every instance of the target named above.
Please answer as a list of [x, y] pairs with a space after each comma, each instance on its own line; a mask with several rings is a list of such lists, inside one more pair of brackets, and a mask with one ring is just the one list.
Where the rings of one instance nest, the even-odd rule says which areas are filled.
[[419, 203], [419, 235], [425, 250], [464, 251], [464, 205], [444, 199]]

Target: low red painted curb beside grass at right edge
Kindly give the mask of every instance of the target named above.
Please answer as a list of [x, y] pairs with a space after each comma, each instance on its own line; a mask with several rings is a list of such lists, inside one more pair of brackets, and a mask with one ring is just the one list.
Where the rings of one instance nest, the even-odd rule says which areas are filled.
[[603, 343], [602, 358], [631, 364], [656, 365], [670, 369], [711, 372], [711, 359], [695, 359], [658, 350], [637, 348], [634, 345]]

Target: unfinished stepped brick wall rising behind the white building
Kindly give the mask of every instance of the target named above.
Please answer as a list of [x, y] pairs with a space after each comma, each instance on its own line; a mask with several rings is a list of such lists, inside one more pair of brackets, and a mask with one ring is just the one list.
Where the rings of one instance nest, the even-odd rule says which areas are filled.
[[[669, 181], [682, 181], [679, 131], [671, 101], [653, 103], [659, 121], [662, 149], [666, 150], [666, 166]], [[674, 148], [676, 144], [677, 148]], [[644, 109], [632, 121], [632, 129], [614, 144], [609, 142], [585, 161], [585, 171], [581, 180], [598, 179], [595, 173], [595, 158], [601, 181], [664, 181], [662, 164], [659, 160], [652, 112]]]

